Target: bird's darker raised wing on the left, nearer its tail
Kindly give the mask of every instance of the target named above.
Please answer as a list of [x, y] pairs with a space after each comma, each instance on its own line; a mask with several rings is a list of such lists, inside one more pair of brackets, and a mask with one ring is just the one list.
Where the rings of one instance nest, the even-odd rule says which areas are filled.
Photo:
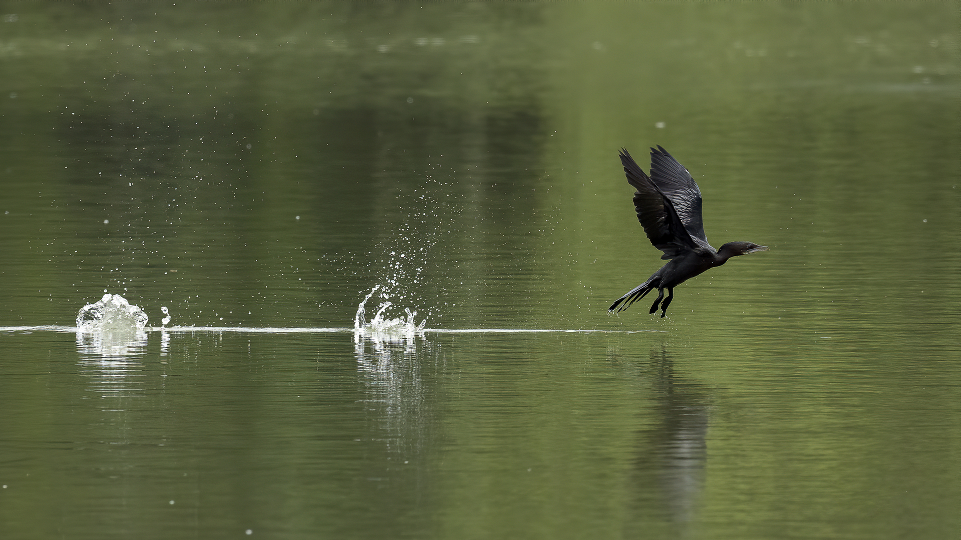
[[[621, 149], [621, 163], [624, 165], [624, 174], [628, 177], [628, 183], [637, 190], [634, 192], [634, 209], [637, 210], [637, 219], [644, 227], [644, 233], [648, 235], [653, 246], [664, 255], [661, 258], [675, 258], [683, 252], [695, 250], [702, 251], [704, 248], [701, 242], [696, 241], [688, 233], [680, 219], [678, 211], [675, 209], [674, 201], [664, 193], [653, 180], [644, 174], [641, 167], [630, 157], [627, 149]], [[677, 163], [677, 161], [675, 161]], [[680, 167], [684, 170], [683, 167]], [[693, 181], [692, 181], [693, 183]], [[695, 186], [695, 189], [697, 186]], [[698, 198], [698, 208], [700, 209], [700, 197]], [[698, 214], [700, 218], [700, 212]], [[703, 240], [706, 244], [706, 240]], [[710, 248], [710, 246], [707, 246]], [[711, 252], [713, 253], [713, 248]]]

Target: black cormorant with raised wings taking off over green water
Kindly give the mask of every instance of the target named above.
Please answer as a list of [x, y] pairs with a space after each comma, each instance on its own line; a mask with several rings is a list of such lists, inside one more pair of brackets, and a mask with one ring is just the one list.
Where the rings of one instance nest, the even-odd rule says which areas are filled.
[[[661, 307], [661, 318], [667, 315], [667, 307], [674, 300], [674, 287], [678, 286], [708, 268], [721, 266], [728, 258], [748, 255], [755, 251], [767, 251], [767, 247], [752, 242], [727, 242], [721, 249], [707, 243], [704, 224], [701, 218], [701, 190], [691, 178], [684, 165], [659, 145], [651, 149], [651, 176], [644, 174], [641, 167], [631, 159], [627, 149], [621, 149], [621, 163], [628, 177], [628, 184], [637, 191], [634, 193], [634, 209], [637, 219], [644, 226], [644, 233], [651, 239], [655, 248], [664, 252], [661, 258], [670, 261], [661, 266], [628, 294], [618, 298], [608, 311], [623, 311], [635, 301], [644, 298], [657, 289], [651, 312]], [[667, 298], [664, 298], [664, 289]], [[663, 299], [663, 303], [661, 300]]]

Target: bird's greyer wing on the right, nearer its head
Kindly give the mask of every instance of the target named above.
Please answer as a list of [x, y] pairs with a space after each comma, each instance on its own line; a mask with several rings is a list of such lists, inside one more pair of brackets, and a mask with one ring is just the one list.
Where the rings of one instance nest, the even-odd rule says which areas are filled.
[[651, 149], [651, 180], [667, 195], [678, 212], [684, 230], [691, 236], [695, 244], [702, 249], [714, 248], [707, 242], [704, 234], [704, 222], [701, 217], [701, 189], [691, 178], [691, 173], [684, 165], [678, 163], [660, 145]]

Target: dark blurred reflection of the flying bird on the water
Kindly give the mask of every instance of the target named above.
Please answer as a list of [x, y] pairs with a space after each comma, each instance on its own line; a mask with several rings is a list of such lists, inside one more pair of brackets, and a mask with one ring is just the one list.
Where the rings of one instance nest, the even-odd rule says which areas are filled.
[[[654, 410], [658, 418], [639, 435], [634, 473], [641, 513], [655, 511], [683, 527], [696, 518], [707, 464], [709, 389], [674, 372], [664, 350], [651, 354]], [[678, 531], [680, 532], [680, 531]]]

